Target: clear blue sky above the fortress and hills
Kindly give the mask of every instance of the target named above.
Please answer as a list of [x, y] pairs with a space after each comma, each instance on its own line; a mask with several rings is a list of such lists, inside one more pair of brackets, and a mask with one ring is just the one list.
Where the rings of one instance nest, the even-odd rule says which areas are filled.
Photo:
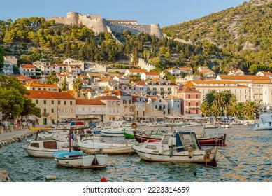
[[108, 20], [137, 20], [160, 27], [201, 18], [248, 0], [3, 0], [0, 20], [66, 16], [69, 11], [100, 14]]

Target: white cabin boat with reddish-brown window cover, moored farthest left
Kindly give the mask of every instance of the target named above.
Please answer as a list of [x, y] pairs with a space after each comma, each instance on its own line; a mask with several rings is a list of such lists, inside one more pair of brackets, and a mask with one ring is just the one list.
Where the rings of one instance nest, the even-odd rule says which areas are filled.
[[37, 158], [53, 158], [52, 153], [60, 149], [69, 147], [67, 142], [59, 142], [55, 140], [39, 140], [30, 141], [29, 145], [22, 145], [24, 151], [29, 156]]

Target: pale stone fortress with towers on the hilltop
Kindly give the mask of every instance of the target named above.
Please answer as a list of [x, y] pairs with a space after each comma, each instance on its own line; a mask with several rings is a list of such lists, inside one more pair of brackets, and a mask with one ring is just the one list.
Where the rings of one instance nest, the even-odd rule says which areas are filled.
[[145, 32], [158, 38], [163, 37], [159, 24], [138, 25], [136, 20], [106, 20], [101, 18], [101, 15], [96, 14], [81, 15], [80, 13], [69, 12], [66, 17], [52, 17], [46, 20], [55, 20], [56, 23], [65, 25], [83, 24], [95, 33], [110, 31], [123, 33], [124, 30], [129, 30], [131, 34]]

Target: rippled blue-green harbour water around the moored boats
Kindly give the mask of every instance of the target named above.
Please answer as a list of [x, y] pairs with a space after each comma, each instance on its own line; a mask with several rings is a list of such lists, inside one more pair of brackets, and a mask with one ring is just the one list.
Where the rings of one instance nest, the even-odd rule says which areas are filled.
[[[196, 132], [202, 129], [182, 128]], [[24, 139], [0, 148], [0, 168], [6, 169], [11, 179], [17, 182], [43, 182], [49, 175], [57, 176], [53, 180], [56, 182], [98, 182], [102, 176], [111, 182], [271, 182], [272, 131], [255, 131], [252, 125], [206, 130], [207, 135], [224, 133], [227, 134], [227, 146], [219, 147], [219, 150], [228, 158], [218, 153], [217, 167], [195, 163], [145, 162], [134, 154], [110, 155], [110, 165], [104, 170], [69, 169], [59, 167], [54, 159], [29, 157], [21, 147], [27, 144], [27, 139]], [[133, 142], [123, 138], [113, 140]]]

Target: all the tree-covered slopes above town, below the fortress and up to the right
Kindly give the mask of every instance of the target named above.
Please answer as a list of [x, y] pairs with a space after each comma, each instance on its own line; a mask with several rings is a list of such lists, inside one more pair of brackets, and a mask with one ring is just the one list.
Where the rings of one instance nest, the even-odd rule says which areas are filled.
[[194, 71], [208, 66], [215, 73], [237, 68], [245, 73], [272, 71], [272, 2], [256, 1], [164, 27], [169, 37], [134, 35], [127, 30], [115, 34], [122, 44], [110, 33], [94, 34], [84, 25], [57, 25], [54, 20], [37, 17], [0, 20], [0, 47], [4, 55], [15, 55], [19, 64], [37, 59], [61, 63], [67, 57], [113, 64], [133, 56], [132, 64], [141, 57], [157, 66], [157, 72], [172, 66], [191, 66]]

